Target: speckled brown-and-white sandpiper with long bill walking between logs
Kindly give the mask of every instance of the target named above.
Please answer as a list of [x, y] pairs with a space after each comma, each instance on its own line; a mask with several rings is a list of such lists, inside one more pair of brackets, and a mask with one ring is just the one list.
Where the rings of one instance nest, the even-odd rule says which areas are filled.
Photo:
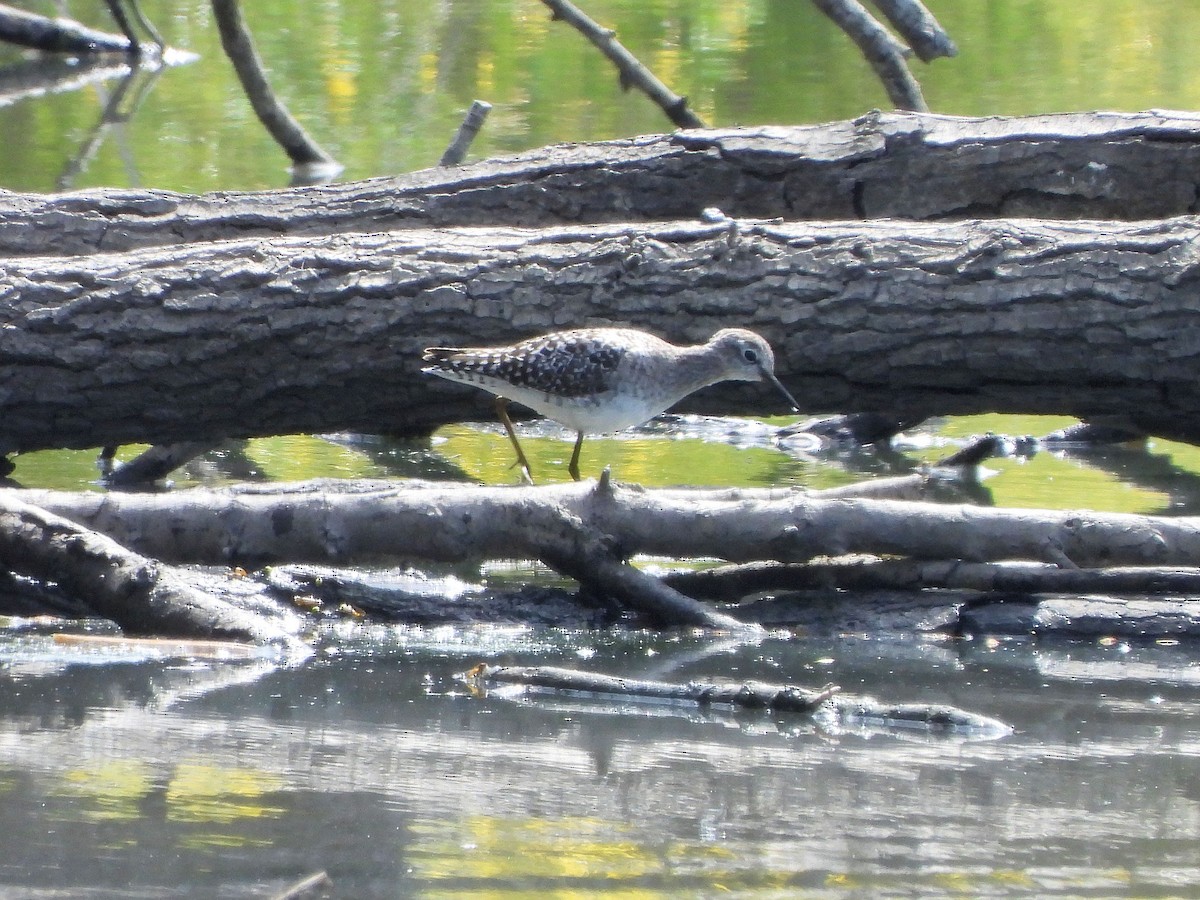
[[576, 433], [568, 472], [580, 480], [586, 433], [641, 425], [718, 382], [769, 382], [796, 400], [775, 377], [775, 354], [760, 335], [727, 328], [707, 343], [677, 347], [630, 328], [556, 331], [511, 347], [430, 347], [422, 372], [474, 384], [496, 395], [496, 412], [533, 481], [529, 461], [509, 419], [516, 401]]

